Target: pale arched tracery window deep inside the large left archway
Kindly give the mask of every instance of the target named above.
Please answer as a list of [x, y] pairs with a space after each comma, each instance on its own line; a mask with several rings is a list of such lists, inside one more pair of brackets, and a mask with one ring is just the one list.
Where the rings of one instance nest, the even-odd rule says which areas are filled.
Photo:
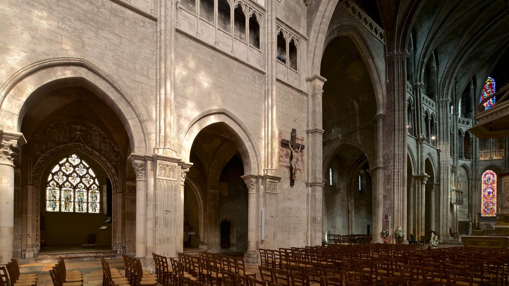
[[99, 181], [87, 162], [72, 154], [54, 165], [46, 186], [46, 211], [99, 213]]

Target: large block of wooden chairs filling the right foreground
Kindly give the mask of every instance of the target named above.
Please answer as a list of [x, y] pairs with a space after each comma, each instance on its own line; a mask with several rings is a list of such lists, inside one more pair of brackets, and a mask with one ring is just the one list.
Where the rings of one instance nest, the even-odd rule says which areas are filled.
[[[259, 252], [260, 279], [271, 286], [496, 286], [509, 275], [508, 249], [337, 244]], [[302, 274], [308, 278], [293, 281]]]

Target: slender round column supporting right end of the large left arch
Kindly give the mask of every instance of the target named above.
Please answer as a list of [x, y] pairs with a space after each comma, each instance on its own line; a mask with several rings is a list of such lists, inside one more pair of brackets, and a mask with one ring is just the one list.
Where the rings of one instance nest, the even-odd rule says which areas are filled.
[[136, 257], [147, 253], [147, 162], [143, 156], [131, 154], [136, 174]]

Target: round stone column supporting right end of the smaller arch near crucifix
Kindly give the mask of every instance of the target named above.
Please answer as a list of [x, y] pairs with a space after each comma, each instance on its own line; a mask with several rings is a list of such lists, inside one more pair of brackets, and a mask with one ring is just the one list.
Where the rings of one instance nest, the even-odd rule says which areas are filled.
[[260, 182], [258, 176], [247, 175], [242, 179], [247, 186], [247, 251], [244, 253], [246, 263], [257, 264], [257, 217], [258, 217], [258, 190]]

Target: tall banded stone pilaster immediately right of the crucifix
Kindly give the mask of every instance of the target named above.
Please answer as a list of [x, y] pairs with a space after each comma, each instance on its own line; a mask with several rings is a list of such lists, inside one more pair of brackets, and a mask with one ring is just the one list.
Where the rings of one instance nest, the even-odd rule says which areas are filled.
[[[322, 244], [322, 196], [323, 196], [323, 132], [322, 129], [322, 94], [323, 84], [327, 79], [320, 75], [306, 78], [309, 82], [308, 96], [308, 129], [307, 133], [307, 156], [308, 156], [308, 220], [309, 241], [307, 245]], [[309, 151], [312, 150], [312, 151]]]

